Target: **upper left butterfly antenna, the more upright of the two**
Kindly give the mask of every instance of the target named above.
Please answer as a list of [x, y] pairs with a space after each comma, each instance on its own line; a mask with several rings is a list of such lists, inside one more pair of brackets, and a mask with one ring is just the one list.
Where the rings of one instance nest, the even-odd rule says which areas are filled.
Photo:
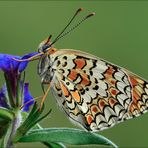
[[[69, 23], [65, 26], [65, 28], [59, 33], [59, 35], [54, 39], [53, 43], [55, 43], [57, 41], [57, 39], [60, 37], [60, 35], [67, 29], [67, 27], [72, 23], [72, 21], [75, 19], [75, 17], [79, 14], [79, 12], [81, 12], [83, 10], [83, 8], [79, 8], [75, 14], [73, 15], [73, 17], [70, 19]], [[52, 44], [53, 44], [52, 43]]]

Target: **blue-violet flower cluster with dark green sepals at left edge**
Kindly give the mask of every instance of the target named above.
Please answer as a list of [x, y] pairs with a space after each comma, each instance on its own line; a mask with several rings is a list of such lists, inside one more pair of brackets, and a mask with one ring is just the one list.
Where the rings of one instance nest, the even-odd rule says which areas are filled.
[[[24, 56], [0, 54], [0, 70], [4, 72], [6, 80], [6, 85], [0, 90], [0, 106], [15, 108], [24, 105], [23, 111], [28, 111], [30, 105], [34, 103], [33, 97], [28, 89], [29, 84], [21, 80], [21, 73], [27, 67], [28, 61], [20, 62], [17, 60], [28, 59], [36, 54], [37, 52], [29, 53]], [[20, 93], [23, 94], [19, 95]], [[24, 104], [22, 104], [22, 102]]]

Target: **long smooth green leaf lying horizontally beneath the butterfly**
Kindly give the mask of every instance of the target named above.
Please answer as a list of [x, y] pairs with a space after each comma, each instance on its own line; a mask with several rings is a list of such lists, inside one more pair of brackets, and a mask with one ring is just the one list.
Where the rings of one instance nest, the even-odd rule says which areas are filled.
[[19, 142], [52, 142], [71, 145], [109, 145], [117, 147], [107, 138], [96, 133], [72, 128], [46, 128], [30, 131]]

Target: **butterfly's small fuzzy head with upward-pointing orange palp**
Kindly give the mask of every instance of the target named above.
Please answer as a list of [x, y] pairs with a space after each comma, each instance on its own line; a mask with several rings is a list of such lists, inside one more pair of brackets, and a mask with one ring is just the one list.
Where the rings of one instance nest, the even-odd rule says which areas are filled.
[[51, 35], [39, 44], [38, 52], [46, 53], [47, 51], [49, 51], [49, 49], [52, 47], [52, 43], [50, 42], [50, 39], [51, 39]]

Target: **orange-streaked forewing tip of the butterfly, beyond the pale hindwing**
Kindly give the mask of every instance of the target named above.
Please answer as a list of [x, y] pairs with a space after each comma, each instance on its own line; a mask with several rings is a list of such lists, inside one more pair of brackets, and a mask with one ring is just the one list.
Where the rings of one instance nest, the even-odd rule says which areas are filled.
[[132, 87], [132, 102], [129, 106], [129, 113], [139, 116], [148, 110], [148, 83], [137, 75], [128, 72], [129, 81]]

